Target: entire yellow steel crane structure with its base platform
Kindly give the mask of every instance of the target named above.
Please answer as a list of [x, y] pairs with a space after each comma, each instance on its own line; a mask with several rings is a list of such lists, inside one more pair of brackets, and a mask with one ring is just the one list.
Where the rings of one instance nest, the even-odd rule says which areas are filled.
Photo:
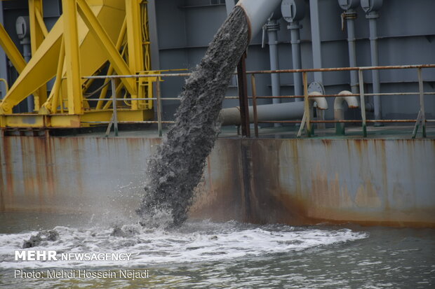
[[[112, 98], [107, 97], [111, 80], [86, 76], [159, 73], [151, 71], [147, 1], [62, 0], [63, 13], [51, 31], [44, 24], [42, 2], [29, 0], [32, 58], [28, 63], [0, 24], [1, 48], [19, 73], [0, 102], [0, 127], [76, 128], [108, 122], [113, 113]], [[153, 118], [156, 81], [152, 77], [114, 80], [120, 122]], [[34, 111], [13, 113], [14, 106], [27, 97], [34, 97]]]

